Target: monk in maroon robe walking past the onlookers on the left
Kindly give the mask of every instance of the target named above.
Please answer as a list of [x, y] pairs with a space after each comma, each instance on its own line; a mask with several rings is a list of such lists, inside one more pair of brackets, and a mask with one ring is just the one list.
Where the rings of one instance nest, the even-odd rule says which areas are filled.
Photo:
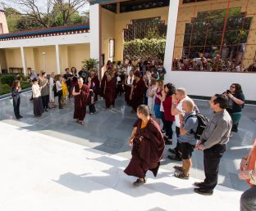
[[83, 78], [78, 79], [78, 85], [75, 85], [72, 94], [75, 97], [74, 119], [77, 120], [77, 123], [85, 125], [84, 119], [89, 97], [89, 88], [84, 84]]

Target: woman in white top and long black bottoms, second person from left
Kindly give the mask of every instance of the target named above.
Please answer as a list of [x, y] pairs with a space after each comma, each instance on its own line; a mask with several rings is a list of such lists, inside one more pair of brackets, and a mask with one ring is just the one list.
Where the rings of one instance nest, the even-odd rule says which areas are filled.
[[33, 95], [33, 103], [34, 103], [34, 115], [39, 117], [43, 114], [43, 101], [41, 97], [41, 89], [43, 87], [39, 87], [39, 79], [32, 80], [32, 95]]

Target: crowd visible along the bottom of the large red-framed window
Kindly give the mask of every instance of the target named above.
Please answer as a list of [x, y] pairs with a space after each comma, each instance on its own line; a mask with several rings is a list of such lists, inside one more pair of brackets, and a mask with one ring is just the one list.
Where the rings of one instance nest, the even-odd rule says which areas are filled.
[[172, 70], [185, 71], [213, 71], [213, 72], [256, 72], [256, 61], [249, 67], [244, 67], [242, 62], [223, 61], [220, 55], [213, 59], [206, 57], [194, 59], [174, 59], [172, 62]]

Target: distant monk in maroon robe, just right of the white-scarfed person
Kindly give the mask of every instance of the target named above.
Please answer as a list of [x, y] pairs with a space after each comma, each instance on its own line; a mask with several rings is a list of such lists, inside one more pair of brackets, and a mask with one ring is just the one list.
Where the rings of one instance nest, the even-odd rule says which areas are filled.
[[137, 70], [135, 72], [135, 80], [132, 84], [130, 91], [130, 103], [132, 109], [136, 112], [139, 105], [144, 104], [144, 92], [146, 90], [146, 84], [143, 79], [140, 78], [140, 73]]

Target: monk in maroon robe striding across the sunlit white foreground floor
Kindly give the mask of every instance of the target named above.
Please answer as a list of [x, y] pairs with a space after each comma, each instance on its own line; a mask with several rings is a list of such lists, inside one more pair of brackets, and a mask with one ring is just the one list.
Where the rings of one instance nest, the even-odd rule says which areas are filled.
[[132, 158], [125, 169], [125, 173], [138, 177], [133, 183], [139, 186], [146, 182], [145, 177], [148, 170], [156, 177], [162, 153], [164, 140], [161, 129], [157, 122], [149, 116], [149, 106], [141, 105], [137, 109], [139, 119], [134, 124], [129, 144], [133, 145], [131, 150]]

